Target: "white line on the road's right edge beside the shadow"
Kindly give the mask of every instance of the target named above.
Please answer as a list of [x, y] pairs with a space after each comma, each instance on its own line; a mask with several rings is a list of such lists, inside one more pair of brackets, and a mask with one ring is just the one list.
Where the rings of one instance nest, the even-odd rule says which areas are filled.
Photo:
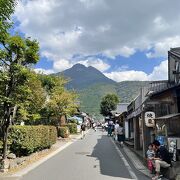
[[138, 180], [136, 174], [135, 174], [135, 173], [133, 172], [133, 170], [131, 169], [131, 166], [130, 166], [129, 163], [127, 162], [126, 158], [125, 158], [124, 155], [121, 153], [121, 151], [119, 150], [119, 148], [116, 146], [116, 144], [114, 143], [114, 141], [113, 141], [112, 139], [111, 139], [111, 142], [113, 143], [115, 149], [117, 150], [118, 155], [119, 155], [120, 158], [123, 160], [124, 165], [125, 165], [126, 168], [128, 169], [131, 177], [132, 177], [133, 179], [137, 179], [137, 180]]

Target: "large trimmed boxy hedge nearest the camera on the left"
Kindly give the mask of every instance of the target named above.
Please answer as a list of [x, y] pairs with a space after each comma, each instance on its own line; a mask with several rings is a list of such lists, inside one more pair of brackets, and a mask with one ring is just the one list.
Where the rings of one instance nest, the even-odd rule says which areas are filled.
[[10, 151], [17, 156], [50, 148], [57, 139], [54, 126], [12, 126], [9, 131]]

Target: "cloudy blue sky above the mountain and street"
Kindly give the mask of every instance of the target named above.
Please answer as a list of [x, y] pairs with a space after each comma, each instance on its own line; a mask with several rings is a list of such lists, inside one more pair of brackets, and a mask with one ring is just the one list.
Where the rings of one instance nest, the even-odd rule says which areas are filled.
[[39, 41], [36, 71], [81, 63], [118, 82], [161, 80], [168, 50], [180, 46], [178, 7], [178, 0], [26, 0], [16, 8], [15, 31]]

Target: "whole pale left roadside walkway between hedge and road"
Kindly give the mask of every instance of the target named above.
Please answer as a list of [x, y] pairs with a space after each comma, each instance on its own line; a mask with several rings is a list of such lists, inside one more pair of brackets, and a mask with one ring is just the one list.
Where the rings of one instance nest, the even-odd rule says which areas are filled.
[[[87, 134], [88, 132], [89, 130], [87, 130], [85, 134]], [[67, 148], [72, 143], [76, 142], [78, 139], [81, 139], [81, 134], [70, 135], [70, 137], [67, 139], [59, 138], [57, 142], [50, 148], [48, 153], [46, 153], [44, 156], [38, 157], [39, 156], [38, 154], [37, 159], [34, 159], [34, 161], [30, 163], [26, 162], [25, 165], [18, 167], [14, 171], [11, 170], [10, 172], [7, 173], [0, 173], [0, 179], [1, 180], [20, 179], [23, 175], [27, 174], [29, 171], [33, 170], [34, 168], [36, 168], [43, 162], [47, 161], [51, 157], [55, 156], [60, 151]]]

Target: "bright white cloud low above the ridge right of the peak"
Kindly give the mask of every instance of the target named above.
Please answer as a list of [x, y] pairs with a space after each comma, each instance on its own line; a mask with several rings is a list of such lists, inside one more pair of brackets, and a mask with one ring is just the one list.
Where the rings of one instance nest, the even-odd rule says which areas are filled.
[[159, 66], [154, 67], [151, 74], [147, 74], [143, 71], [125, 70], [116, 71], [111, 73], [104, 73], [108, 78], [121, 82], [121, 81], [156, 81], [156, 80], [167, 80], [168, 76], [168, 61], [163, 61]]

